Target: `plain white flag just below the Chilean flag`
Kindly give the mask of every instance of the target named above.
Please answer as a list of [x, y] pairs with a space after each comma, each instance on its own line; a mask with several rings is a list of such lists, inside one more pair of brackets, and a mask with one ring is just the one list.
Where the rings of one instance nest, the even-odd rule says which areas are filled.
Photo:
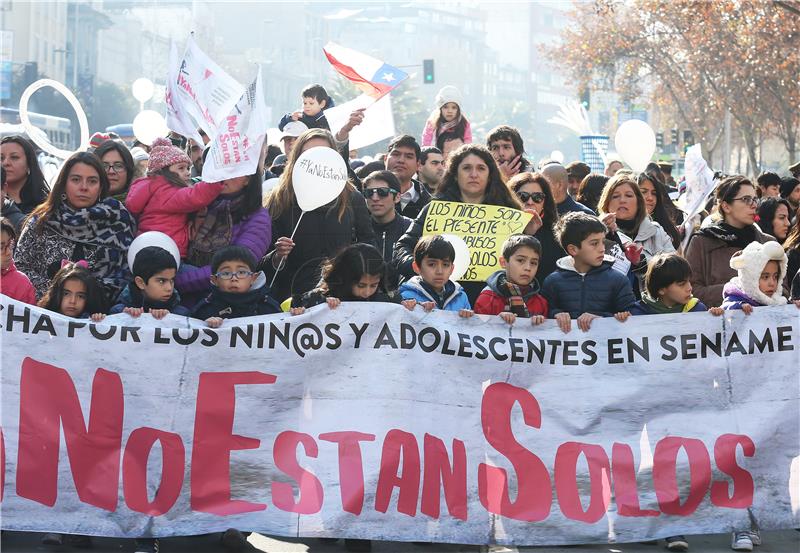
[[325, 118], [331, 131], [336, 134], [345, 126], [353, 110], [367, 108], [364, 121], [350, 131], [350, 149], [357, 150], [394, 136], [394, 115], [392, 114], [391, 94], [387, 94], [377, 102], [374, 98], [362, 94], [347, 103], [325, 110]]

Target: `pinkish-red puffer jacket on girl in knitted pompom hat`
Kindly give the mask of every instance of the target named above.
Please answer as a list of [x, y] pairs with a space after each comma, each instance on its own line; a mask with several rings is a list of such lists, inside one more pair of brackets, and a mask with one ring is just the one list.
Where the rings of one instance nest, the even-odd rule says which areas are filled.
[[181, 259], [189, 251], [189, 214], [200, 211], [222, 192], [221, 182], [179, 187], [162, 176], [144, 177], [131, 184], [125, 207], [139, 221], [139, 233], [163, 232], [175, 241]]

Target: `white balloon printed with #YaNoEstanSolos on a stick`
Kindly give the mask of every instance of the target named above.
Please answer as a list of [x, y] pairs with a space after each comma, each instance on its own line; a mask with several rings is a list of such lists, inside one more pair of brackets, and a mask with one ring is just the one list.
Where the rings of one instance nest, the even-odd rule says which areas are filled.
[[329, 204], [347, 184], [344, 158], [326, 146], [303, 152], [292, 170], [292, 187], [297, 204], [303, 211], [313, 211]]

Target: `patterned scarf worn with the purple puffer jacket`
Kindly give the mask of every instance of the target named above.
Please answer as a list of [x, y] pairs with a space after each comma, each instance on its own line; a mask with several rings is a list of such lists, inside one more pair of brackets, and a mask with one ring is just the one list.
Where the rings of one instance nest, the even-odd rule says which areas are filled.
[[244, 194], [219, 196], [205, 210], [202, 222], [189, 243], [187, 260], [197, 267], [211, 263], [214, 253], [230, 245], [233, 237], [233, 216], [241, 212]]

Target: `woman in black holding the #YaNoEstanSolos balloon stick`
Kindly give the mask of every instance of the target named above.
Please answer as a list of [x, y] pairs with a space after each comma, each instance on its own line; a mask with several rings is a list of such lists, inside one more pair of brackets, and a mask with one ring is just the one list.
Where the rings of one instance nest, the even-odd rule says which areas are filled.
[[333, 202], [306, 212], [294, 238], [290, 238], [303, 213], [292, 184], [294, 164], [308, 149], [335, 146], [333, 136], [325, 129], [309, 129], [297, 137], [281, 181], [266, 201], [275, 241], [264, 269], [270, 280], [278, 273], [272, 295], [279, 300], [299, 298], [316, 287], [322, 263], [344, 247], [357, 242], [375, 245], [367, 204], [349, 183]]

